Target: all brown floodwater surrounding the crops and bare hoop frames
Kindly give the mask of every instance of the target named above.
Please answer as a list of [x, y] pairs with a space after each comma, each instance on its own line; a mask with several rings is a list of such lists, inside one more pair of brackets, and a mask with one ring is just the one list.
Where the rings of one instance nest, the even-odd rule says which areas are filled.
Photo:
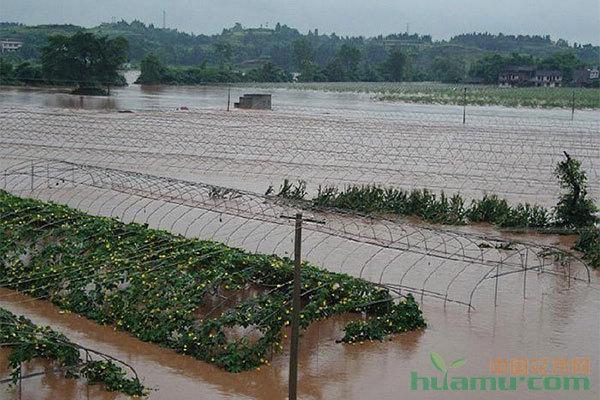
[[[234, 89], [232, 97], [249, 91]], [[225, 88], [132, 86], [116, 90], [115, 96], [108, 99], [2, 89], [0, 170], [15, 166], [28, 170], [31, 160], [41, 160], [41, 164], [34, 166], [31, 182], [29, 175], [9, 175], [0, 187], [92, 214], [116, 215], [126, 221], [148, 222], [176, 233], [278, 254], [291, 251], [289, 227], [272, 228], [271, 222], [260, 220], [241, 222], [242, 218], [221, 215], [215, 209], [194, 208], [195, 203], [189, 202], [201, 193], [185, 189], [191, 187], [188, 184], [174, 187], [166, 178], [216, 183], [255, 193], [264, 192], [268, 185], [277, 187], [285, 177], [306, 179], [313, 185], [312, 190], [316, 184], [374, 182], [466, 195], [502, 193], [514, 201], [551, 205], [558, 193], [552, 178], [553, 165], [567, 150], [582, 159], [591, 193], [600, 197], [600, 123], [596, 113], [578, 112], [571, 122], [569, 112], [564, 110], [480, 107], [469, 109], [468, 124], [462, 126], [459, 107], [376, 103], [365, 95], [276, 91], [274, 111], [264, 113], [227, 113], [223, 99]], [[190, 111], [174, 111], [183, 106]], [[134, 112], [120, 114], [116, 110]], [[131, 175], [128, 180], [127, 173], [111, 178], [109, 172], [91, 167], [85, 173], [54, 170], [52, 163], [57, 161], [163, 178], [142, 181]], [[62, 174], [61, 178], [73, 174], [73, 182], [65, 183], [54, 174]], [[93, 181], [94, 185], [84, 185], [84, 176], [88, 180], [85, 182]], [[34, 190], [29, 190], [30, 183]], [[159, 190], [162, 198], [151, 197], [152, 188]], [[183, 193], [187, 202], [174, 199], [175, 194], [169, 190]], [[470, 252], [481, 252], [477, 243], [483, 239], [479, 237], [427, 233], [407, 223], [367, 224], [349, 217], [332, 219], [330, 226], [346, 232], [349, 226], [363, 233], [385, 232], [393, 237], [390, 243], [396, 243], [398, 237], [411, 237], [414, 242], [415, 236], [422, 236], [427, 253], [411, 253], [389, 245], [382, 249], [378, 243], [357, 243], [320, 228], [307, 228], [304, 256], [336, 272], [386, 283], [404, 281], [407, 286], [419, 288], [427, 284], [428, 290], [443, 292], [460, 271], [460, 279], [450, 291], [450, 297], [460, 300], [468, 299], [471, 288], [483, 275], [478, 268], [483, 265], [465, 261]], [[485, 227], [456, 231], [502, 235]], [[569, 240], [530, 235], [511, 238], [557, 246], [566, 246]], [[423, 250], [418, 243], [413, 246]], [[439, 248], [452, 254], [460, 250], [464, 258], [440, 260], [435, 254], [442, 251], [436, 250]], [[515, 256], [491, 253], [486, 253], [486, 260], [510, 260]], [[561, 271], [558, 265], [546, 268]], [[580, 265], [575, 269], [574, 274], [585, 277]], [[499, 282], [496, 307], [493, 283], [488, 280], [476, 293], [471, 312], [462, 305], [444, 305], [427, 296], [418, 298], [423, 302], [428, 327], [383, 343], [335, 343], [341, 337], [343, 318], [315, 324], [301, 340], [299, 397], [597, 399], [599, 278], [599, 273], [592, 271], [588, 284], [560, 274], [531, 271], [523, 298], [523, 275], [508, 275]], [[49, 324], [77, 343], [133, 365], [144, 383], [155, 389], [151, 399], [286, 398], [285, 350], [260, 371], [229, 374], [14, 292], [0, 290], [0, 307], [26, 315], [38, 324]], [[411, 371], [420, 376], [440, 375], [429, 360], [431, 351], [442, 355], [447, 363], [466, 359], [464, 366], [450, 371], [452, 376], [490, 375], [490, 362], [498, 358], [551, 362], [556, 358], [587, 357], [591, 363], [591, 389], [533, 392], [521, 387], [516, 392], [491, 394], [413, 391]], [[30, 366], [32, 371], [42, 367]], [[86, 399], [87, 390], [82, 383], [49, 374], [24, 382], [22, 398]], [[18, 399], [18, 391], [2, 387], [0, 398]], [[89, 398], [123, 396], [91, 388]]]

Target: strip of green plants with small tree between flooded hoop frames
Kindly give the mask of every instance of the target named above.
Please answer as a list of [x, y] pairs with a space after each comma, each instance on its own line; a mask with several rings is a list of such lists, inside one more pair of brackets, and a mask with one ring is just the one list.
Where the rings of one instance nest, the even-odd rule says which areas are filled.
[[[319, 186], [316, 197], [308, 200], [306, 182], [284, 180], [274, 194], [269, 187], [266, 195], [300, 201], [307, 208], [333, 208], [365, 214], [418, 217], [423, 221], [464, 225], [485, 222], [502, 228], [536, 229], [579, 235], [576, 250], [595, 268], [600, 267], [600, 221], [598, 207], [588, 197], [587, 176], [581, 163], [565, 153], [566, 159], [556, 166], [555, 175], [564, 192], [556, 207], [549, 210], [539, 205], [510, 205], [496, 195], [484, 195], [466, 205], [460, 194], [452, 197], [437, 195], [427, 189], [406, 191], [376, 185], [350, 185], [344, 189]], [[481, 244], [485, 247], [485, 244]], [[510, 248], [510, 244], [508, 245]]]

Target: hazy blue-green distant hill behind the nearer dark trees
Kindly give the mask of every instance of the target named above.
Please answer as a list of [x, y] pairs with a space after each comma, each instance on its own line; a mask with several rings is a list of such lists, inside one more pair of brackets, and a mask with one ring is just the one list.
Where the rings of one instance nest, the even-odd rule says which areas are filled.
[[240, 67], [255, 67], [272, 62], [294, 71], [299, 69], [299, 58], [309, 58], [317, 64], [325, 65], [344, 44], [359, 49], [365, 64], [380, 63], [386, 59], [391, 49], [400, 48], [410, 54], [415, 69], [428, 68], [439, 57], [456, 58], [470, 65], [490, 53], [520, 53], [543, 58], [557, 52], [570, 52], [582, 62], [593, 65], [598, 63], [600, 54], [598, 46], [569, 44], [562, 39], [552, 40], [549, 36], [467, 33], [439, 41], [432, 40], [429, 35], [406, 33], [369, 38], [342, 37], [335, 34], [322, 35], [318, 31], [302, 34], [297, 29], [281, 24], [272, 29], [245, 28], [236, 24], [220, 34], [208, 36], [161, 29], [139, 21], [104, 23], [90, 29], [75, 25], [25, 26], [0, 23], [0, 38], [22, 40], [24, 44], [18, 56], [22, 59], [35, 59], [49, 35], [72, 34], [81, 29], [102, 35], [126, 37], [132, 63], [138, 63], [147, 53], [154, 52], [165, 64], [180, 66], [204, 62], [218, 65], [227, 62]]

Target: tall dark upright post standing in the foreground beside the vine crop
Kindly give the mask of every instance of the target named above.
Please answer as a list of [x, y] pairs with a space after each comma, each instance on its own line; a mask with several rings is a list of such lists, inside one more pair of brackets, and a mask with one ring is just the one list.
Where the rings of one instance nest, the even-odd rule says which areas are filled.
[[292, 301], [292, 337], [290, 342], [290, 375], [288, 399], [298, 398], [298, 345], [300, 339], [300, 266], [302, 264], [302, 213], [296, 214], [294, 239], [294, 297]]

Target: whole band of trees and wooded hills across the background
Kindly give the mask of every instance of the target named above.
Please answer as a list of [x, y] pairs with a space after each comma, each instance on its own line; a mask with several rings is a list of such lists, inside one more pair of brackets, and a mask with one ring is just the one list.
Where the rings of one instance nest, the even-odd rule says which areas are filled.
[[[236, 24], [212, 36], [159, 29], [138, 21], [102, 24], [89, 30], [73, 25], [32, 28], [0, 24], [0, 35], [24, 40], [21, 52], [0, 58], [0, 82], [124, 84], [114, 66], [126, 61], [141, 68], [140, 82], [149, 84], [292, 80], [461, 83], [472, 78], [493, 84], [508, 65], [558, 69], [569, 82], [575, 69], [594, 65], [599, 52], [597, 46], [571, 46], [549, 36], [472, 33], [447, 41], [407, 33], [342, 37], [317, 30], [301, 34], [281, 24], [273, 29]], [[42, 41], [40, 35], [55, 32]], [[69, 54], [58, 50], [65, 43], [71, 46]], [[92, 54], [100, 58], [92, 60]], [[25, 59], [28, 55], [36, 58]], [[106, 65], [101, 58], [106, 58]], [[82, 60], [89, 65], [82, 65]]]

